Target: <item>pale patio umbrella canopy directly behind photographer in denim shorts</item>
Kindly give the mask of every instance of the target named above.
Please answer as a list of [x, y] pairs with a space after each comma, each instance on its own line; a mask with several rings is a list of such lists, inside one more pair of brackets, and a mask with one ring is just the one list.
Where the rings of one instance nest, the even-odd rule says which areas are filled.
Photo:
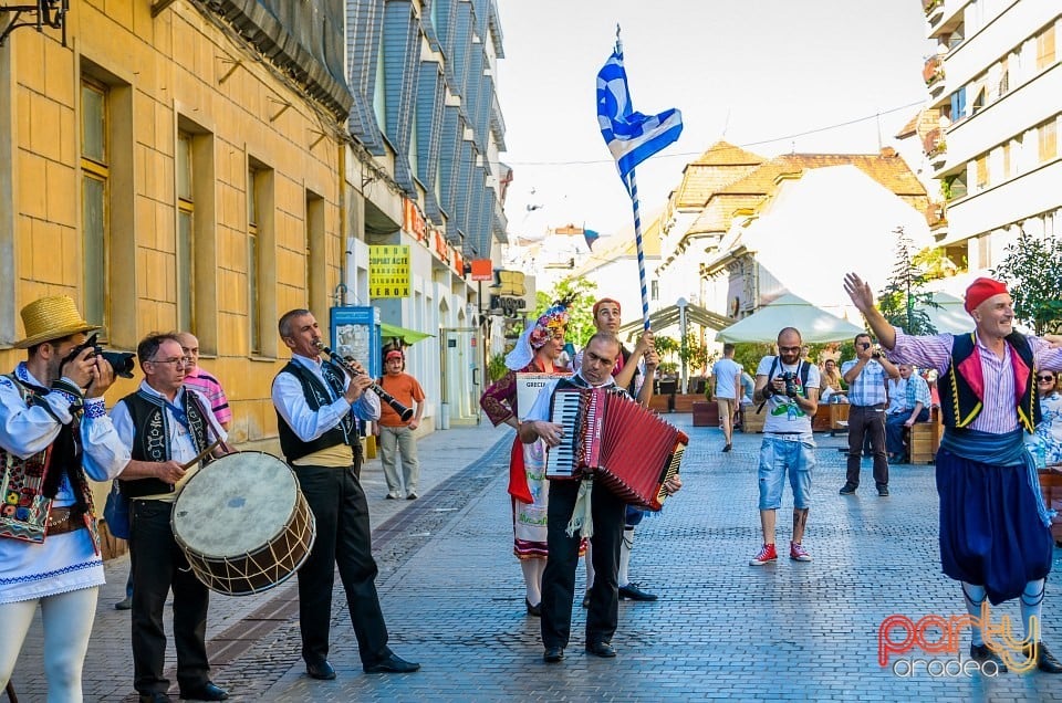
[[782, 327], [795, 327], [805, 343], [837, 342], [865, 332], [863, 327], [831, 315], [800, 296], [787, 293], [716, 333], [716, 340], [774, 342]]

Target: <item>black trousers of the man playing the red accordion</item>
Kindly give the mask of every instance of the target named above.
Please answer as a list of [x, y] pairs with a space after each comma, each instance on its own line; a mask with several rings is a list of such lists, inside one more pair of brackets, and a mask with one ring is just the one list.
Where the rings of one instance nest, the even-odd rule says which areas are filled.
[[[575, 569], [579, 566], [579, 532], [565, 534], [572, 518], [579, 481], [551, 481], [550, 507], [546, 513], [546, 544], [550, 556], [542, 575], [542, 644], [568, 647], [572, 630], [572, 601], [575, 598]], [[612, 641], [620, 622], [620, 545], [626, 503], [601, 484], [591, 493], [594, 536], [594, 585], [590, 589], [586, 611], [586, 643]]]

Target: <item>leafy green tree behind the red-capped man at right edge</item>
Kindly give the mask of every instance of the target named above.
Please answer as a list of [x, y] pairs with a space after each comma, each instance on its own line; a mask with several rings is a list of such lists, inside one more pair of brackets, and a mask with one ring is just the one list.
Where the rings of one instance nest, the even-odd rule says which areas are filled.
[[1060, 329], [1062, 246], [1058, 239], [1021, 230], [1018, 240], [1003, 249], [1003, 260], [992, 275], [1007, 283], [1019, 322], [1037, 334]]

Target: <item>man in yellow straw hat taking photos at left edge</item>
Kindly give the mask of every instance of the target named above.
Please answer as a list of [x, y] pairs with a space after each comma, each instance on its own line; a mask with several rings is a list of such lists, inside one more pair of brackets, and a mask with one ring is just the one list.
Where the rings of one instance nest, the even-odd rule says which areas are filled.
[[86, 474], [107, 481], [129, 454], [106, 416], [114, 369], [65, 295], [22, 308], [27, 359], [0, 376], [0, 688], [41, 606], [50, 701], [81, 701], [81, 671], [104, 583]]

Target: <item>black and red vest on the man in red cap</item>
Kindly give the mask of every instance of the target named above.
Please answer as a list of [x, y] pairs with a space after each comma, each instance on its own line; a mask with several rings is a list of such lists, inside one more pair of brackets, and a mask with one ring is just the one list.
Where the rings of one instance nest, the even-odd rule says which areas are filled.
[[[1007, 335], [1010, 345], [1011, 365], [1014, 369], [1014, 411], [1018, 421], [1028, 432], [1040, 422], [1040, 403], [1037, 400], [1035, 361], [1029, 340], [1018, 332]], [[946, 427], [964, 428], [970, 424], [983, 409], [985, 377], [981, 374], [981, 357], [974, 333], [956, 335], [951, 345], [951, 366], [937, 384], [940, 394], [941, 419]]]

